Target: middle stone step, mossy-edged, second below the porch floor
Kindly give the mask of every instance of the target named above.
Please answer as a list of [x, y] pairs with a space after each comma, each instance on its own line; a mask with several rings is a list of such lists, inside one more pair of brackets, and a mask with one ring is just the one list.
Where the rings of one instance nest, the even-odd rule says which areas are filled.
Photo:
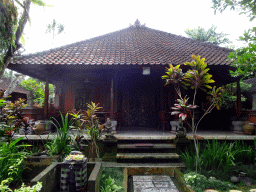
[[117, 153], [117, 159], [166, 159], [178, 160], [180, 156], [177, 153]]

